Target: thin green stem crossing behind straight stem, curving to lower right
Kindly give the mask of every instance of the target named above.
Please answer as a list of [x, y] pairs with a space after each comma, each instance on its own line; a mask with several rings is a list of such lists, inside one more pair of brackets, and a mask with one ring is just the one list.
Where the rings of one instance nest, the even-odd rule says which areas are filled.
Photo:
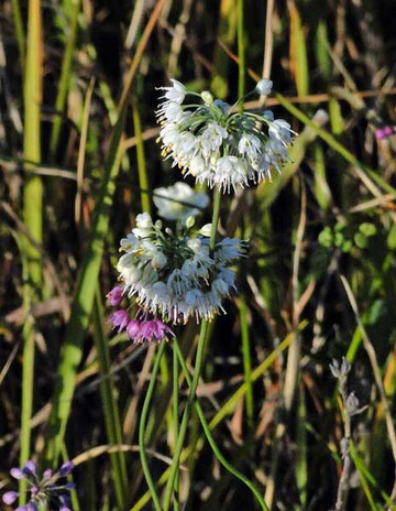
[[[191, 378], [190, 378], [190, 374], [188, 372], [188, 369], [187, 369], [187, 366], [186, 366], [186, 362], [185, 362], [185, 359], [183, 357], [183, 354], [182, 354], [182, 350], [180, 350], [180, 347], [178, 345], [178, 341], [177, 341], [177, 338], [175, 337], [173, 339], [173, 343], [174, 343], [174, 349], [176, 350], [176, 354], [178, 356], [178, 359], [179, 359], [179, 362], [180, 362], [180, 366], [182, 366], [182, 369], [183, 369], [183, 372], [185, 374], [185, 378], [187, 380], [187, 384], [188, 387], [191, 389], [191, 385], [193, 385], [193, 382], [191, 382]], [[209, 424], [207, 423], [207, 420], [205, 418], [205, 414], [204, 414], [204, 411], [201, 409], [201, 405], [199, 404], [199, 401], [195, 400], [194, 401], [194, 405], [196, 407], [196, 411], [197, 411], [197, 414], [199, 416], [199, 420], [202, 424], [202, 428], [204, 428], [204, 432], [205, 432], [205, 435], [206, 437], [208, 438], [208, 442], [210, 444], [210, 447], [212, 448], [213, 450], [213, 454], [215, 456], [218, 458], [218, 460], [221, 463], [221, 465], [227, 469], [229, 470], [233, 476], [235, 476], [238, 479], [240, 479], [241, 481], [243, 481], [248, 488], [250, 488], [252, 490], [252, 492], [254, 493], [255, 498], [257, 499], [257, 501], [260, 502], [260, 505], [262, 507], [262, 509], [264, 511], [268, 511], [268, 507], [266, 505], [262, 494], [260, 493], [260, 491], [255, 488], [255, 486], [243, 475], [241, 474], [239, 470], [237, 470], [232, 465], [230, 465], [227, 459], [223, 457], [223, 455], [220, 453], [218, 446], [216, 445], [216, 442], [215, 442], [215, 438], [210, 432], [210, 428], [209, 428]]]

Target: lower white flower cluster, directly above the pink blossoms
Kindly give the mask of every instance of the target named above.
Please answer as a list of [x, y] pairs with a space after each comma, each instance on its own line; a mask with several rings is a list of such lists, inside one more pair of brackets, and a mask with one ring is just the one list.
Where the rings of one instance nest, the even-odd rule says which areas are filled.
[[125, 253], [117, 269], [123, 293], [135, 296], [143, 313], [176, 324], [191, 316], [211, 319], [223, 311], [222, 300], [235, 289], [235, 273], [228, 267], [244, 254], [245, 242], [226, 238], [210, 253], [201, 232], [176, 237], [170, 229], [163, 231], [161, 220], [153, 224], [148, 214], [138, 215], [136, 227], [121, 240]]

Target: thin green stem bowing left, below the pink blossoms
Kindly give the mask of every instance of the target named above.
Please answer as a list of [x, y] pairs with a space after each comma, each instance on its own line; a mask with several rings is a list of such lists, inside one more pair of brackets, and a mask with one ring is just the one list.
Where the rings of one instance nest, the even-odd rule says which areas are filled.
[[156, 376], [158, 373], [160, 362], [161, 362], [162, 356], [164, 355], [165, 345], [166, 345], [165, 341], [161, 343], [160, 349], [158, 349], [158, 351], [157, 351], [157, 354], [155, 356], [154, 367], [153, 367], [153, 371], [152, 371], [152, 374], [151, 374], [151, 378], [150, 378], [148, 389], [147, 389], [147, 392], [146, 392], [146, 395], [145, 395], [145, 399], [144, 399], [141, 420], [140, 420], [140, 424], [139, 424], [139, 450], [140, 450], [142, 467], [143, 467], [143, 471], [144, 471], [144, 477], [145, 477], [145, 479], [147, 481], [150, 494], [151, 494], [151, 497], [153, 499], [155, 511], [162, 511], [162, 507], [161, 507], [160, 498], [158, 498], [158, 494], [157, 494], [157, 492], [155, 490], [155, 486], [154, 486], [154, 482], [153, 482], [153, 479], [151, 477], [150, 469], [148, 469], [148, 463], [147, 463], [147, 457], [146, 457], [145, 446], [144, 446], [144, 432], [145, 432], [145, 424], [146, 424], [147, 413], [148, 413], [148, 409], [150, 409], [150, 401], [151, 401], [151, 398], [153, 395], [153, 391], [154, 391], [154, 387], [155, 387], [155, 380], [156, 380]]

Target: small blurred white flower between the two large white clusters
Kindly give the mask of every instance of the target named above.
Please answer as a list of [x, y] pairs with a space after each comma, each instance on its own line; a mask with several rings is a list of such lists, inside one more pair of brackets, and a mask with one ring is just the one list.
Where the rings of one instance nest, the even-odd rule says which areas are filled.
[[161, 217], [183, 222], [189, 217], [196, 217], [209, 204], [206, 194], [195, 192], [180, 181], [167, 188], [155, 188], [153, 200]]

